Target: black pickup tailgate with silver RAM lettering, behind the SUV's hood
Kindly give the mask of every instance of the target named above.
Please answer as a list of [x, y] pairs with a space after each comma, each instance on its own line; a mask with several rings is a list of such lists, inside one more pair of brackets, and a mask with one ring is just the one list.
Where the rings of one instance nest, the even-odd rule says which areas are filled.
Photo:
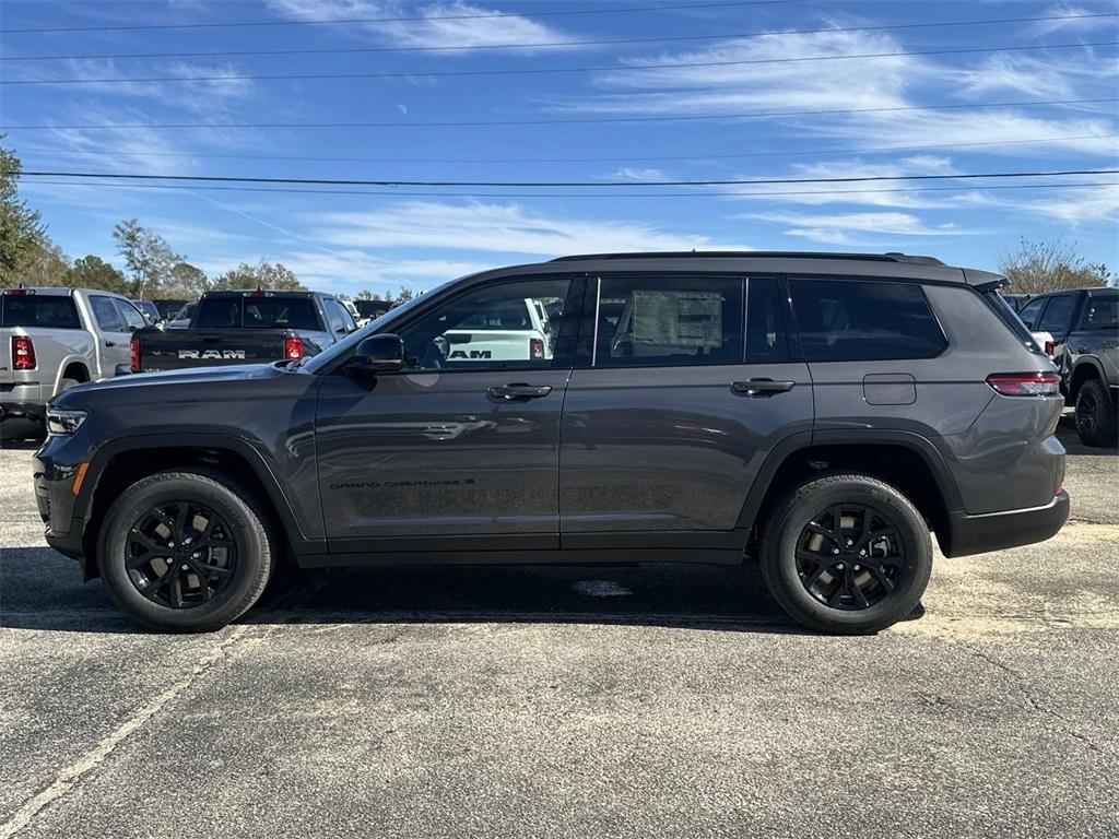
[[284, 358], [285, 329], [142, 329], [140, 370], [260, 364]]

